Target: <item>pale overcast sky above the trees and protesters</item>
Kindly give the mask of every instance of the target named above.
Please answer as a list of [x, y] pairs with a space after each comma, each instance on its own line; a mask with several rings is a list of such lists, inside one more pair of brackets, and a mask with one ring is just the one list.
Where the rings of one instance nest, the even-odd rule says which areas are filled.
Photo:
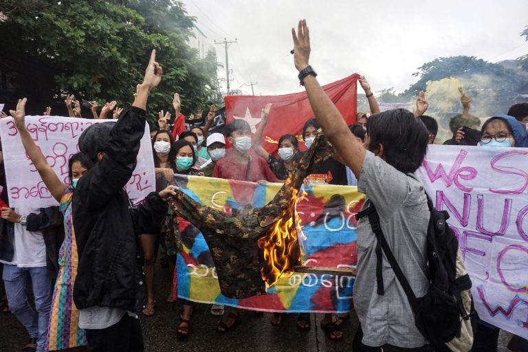
[[[417, 67], [441, 56], [467, 55], [497, 62], [528, 54], [519, 34], [528, 25], [528, 1], [184, 0], [225, 63], [230, 45], [231, 89], [256, 95], [300, 91], [290, 30], [310, 28], [310, 63], [320, 83], [364, 74], [374, 91], [415, 83]], [[219, 69], [225, 78], [225, 69]], [[222, 83], [225, 90], [225, 83]]]

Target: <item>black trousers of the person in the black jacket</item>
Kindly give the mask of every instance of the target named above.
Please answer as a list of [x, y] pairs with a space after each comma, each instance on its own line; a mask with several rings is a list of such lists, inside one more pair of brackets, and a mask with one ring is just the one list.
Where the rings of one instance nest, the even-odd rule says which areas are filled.
[[86, 329], [90, 352], [143, 352], [143, 335], [140, 320], [125, 314], [106, 329]]

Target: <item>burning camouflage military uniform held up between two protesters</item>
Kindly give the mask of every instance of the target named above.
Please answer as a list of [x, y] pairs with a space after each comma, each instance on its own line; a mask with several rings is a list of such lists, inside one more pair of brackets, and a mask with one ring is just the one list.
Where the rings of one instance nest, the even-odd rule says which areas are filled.
[[[170, 200], [170, 208], [174, 213], [173, 220], [168, 221], [167, 230], [177, 232], [177, 217], [187, 219], [201, 230], [217, 268], [224, 296], [241, 299], [265, 294], [265, 282], [260, 273], [263, 254], [257, 241], [270, 232], [272, 226], [284, 216], [294, 192], [298, 191], [310, 170], [335, 153], [322, 133], [313, 144], [296, 165], [292, 176], [263, 208], [241, 210], [234, 217], [204, 206], [181, 191]], [[296, 264], [298, 263], [291, 263]]]

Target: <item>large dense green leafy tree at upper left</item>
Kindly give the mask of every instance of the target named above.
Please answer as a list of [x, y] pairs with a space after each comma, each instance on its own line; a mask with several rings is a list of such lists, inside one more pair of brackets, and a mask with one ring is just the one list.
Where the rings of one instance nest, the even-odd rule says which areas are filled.
[[[148, 54], [157, 50], [164, 78], [148, 100], [151, 113], [181, 97], [184, 113], [214, 102], [216, 57], [188, 45], [195, 18], [167, 0], [2, 1], [0, 70], [14, 95], [42, 109], [67, 92], [78, 99], [128, 104]], [[34, 111], [36, 113], [39, 110]]]

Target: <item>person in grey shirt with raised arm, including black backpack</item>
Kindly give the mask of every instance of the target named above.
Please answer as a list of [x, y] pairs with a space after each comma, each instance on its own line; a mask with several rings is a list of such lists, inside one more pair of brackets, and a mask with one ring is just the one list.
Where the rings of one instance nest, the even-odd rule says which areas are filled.
[[[465, 311], [470, 311], [470, 304], [462, 306], [470, 303], [470, 280], [463, 263], [456, 260], [456, 239], [445, 234], [445, 214], [432, 208], [421, 182], [413, 175], [426, 155], [426, 126], [405, 109], [377, 113], [369, 119], [366, 140], [361, 144], [309, 65], [305, 20], [299, 21], [297, 33], [292, 29], [292, 36], [298, 78], [306, 88], [316, 120], [358, 178], [358, 190], [367, 197], [365, 216], [357, 228], [353, 295], [360, 327], [353, 351], [469, 351], [472, 333], [463, 346], [445, 344], [456, 336], [470, 335], [467, 325], [460, 323], [469, 319]], [[450, 241], [441, 243], [441, 237], [437, 241], [437, 233]], [[454, 256], [448, 258], [446, 253]], [[450, 263], [449, 270], [444, 259]], [[460, 289], [454, 288], [457, 276], [465, 281]]]

